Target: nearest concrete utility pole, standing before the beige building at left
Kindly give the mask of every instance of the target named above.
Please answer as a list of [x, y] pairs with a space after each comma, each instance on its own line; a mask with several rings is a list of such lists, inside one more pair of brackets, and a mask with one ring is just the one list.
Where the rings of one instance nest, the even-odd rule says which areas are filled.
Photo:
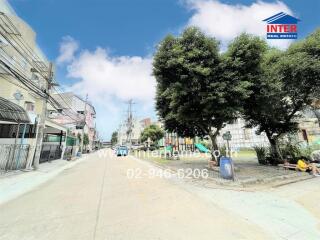
[[49, 91], [52, 85], [52, 63], [49, 63], [49, 69], [48, 69], [48, 75], [45, 84], [45, 97], [42, 102], [42, 112], [40, 115], [40, 119], [38, 119], [38, 131], [36, 136], [36, 149], [35, 149], [35, 155], [33, 160], [33, 167], [35, 170], [39, 169], [39, 160], [40, 160], [40, 154], [41, 154], [41, 147], [42, 147], [42, 141], [43, 141], [43, 134], [44, 134], [44, 128], [45, 128], [45, 122], [46, 122], [46, 116], [47, 116], [47, 102], [49, 97]]

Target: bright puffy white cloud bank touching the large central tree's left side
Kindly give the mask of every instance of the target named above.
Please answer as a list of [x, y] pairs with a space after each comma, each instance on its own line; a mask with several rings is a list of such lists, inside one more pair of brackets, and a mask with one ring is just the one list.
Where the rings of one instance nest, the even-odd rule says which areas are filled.
[[97, 99], [112, 96], [122, 101], [133, 98], [148, 102], [155, 94], [151, 58], [111, 57], [102, 48], [83, 51], [68, 66], [68, 77], [80, 79], [73, 86], [75, 91]]

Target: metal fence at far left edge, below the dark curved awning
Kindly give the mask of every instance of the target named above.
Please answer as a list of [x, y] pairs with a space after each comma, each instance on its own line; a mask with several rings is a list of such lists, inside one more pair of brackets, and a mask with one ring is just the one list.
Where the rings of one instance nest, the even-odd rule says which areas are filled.
[[29, 144], [1, 144], [0, 171], [19, 170], [26, 168]]

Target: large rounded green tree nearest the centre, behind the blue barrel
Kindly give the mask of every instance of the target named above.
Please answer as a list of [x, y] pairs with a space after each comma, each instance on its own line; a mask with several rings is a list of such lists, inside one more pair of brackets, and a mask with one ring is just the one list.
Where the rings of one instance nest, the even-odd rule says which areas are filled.
[[220, 130], [238, 114], [232, 94], [240, 89], [233, 86], [241, 88], [224, 74], [223, 66], [219, 43], [197, 28], [160, 43], [153, 73], [156, 109], [167, 130], [186, 137], [209, 136], [213, 150], [218, 150]]

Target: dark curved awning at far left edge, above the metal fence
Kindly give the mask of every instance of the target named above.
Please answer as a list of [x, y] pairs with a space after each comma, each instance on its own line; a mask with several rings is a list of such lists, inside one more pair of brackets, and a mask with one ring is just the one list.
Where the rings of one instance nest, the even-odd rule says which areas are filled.
[[29, 116], [22, 107], [2, 97], [0, 97], [0, 120], [30, 123]]

